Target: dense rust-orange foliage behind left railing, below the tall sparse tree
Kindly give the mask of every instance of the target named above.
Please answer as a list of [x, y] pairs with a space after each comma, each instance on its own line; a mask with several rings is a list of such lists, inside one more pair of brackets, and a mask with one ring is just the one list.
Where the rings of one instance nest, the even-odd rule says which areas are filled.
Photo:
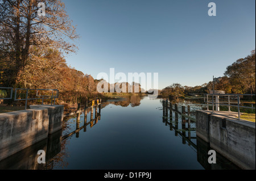
[[[57, 89], [66, 103], [84, 102], [97, 96], [97, 80], [67, 65], [59, 50], [34, 47], [20, 83], [27, 89]], [[99, 96], [99, 95], [98, 95]]]

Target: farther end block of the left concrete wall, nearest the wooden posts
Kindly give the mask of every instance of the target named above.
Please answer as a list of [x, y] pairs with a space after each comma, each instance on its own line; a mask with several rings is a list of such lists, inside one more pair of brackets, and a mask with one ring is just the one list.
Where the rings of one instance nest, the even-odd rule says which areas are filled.
[[47, 108], [49, 116], [49, 134], [62, 129], [64, 106], [32, 105], [30, 108]]

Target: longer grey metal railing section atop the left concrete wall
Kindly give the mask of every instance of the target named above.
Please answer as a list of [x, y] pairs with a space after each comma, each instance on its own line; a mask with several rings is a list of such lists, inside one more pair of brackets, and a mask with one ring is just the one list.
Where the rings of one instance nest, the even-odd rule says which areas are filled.
[[[25, 99], [18, 99], [17, 94], [18, 91], [23, 90], [26, 91], [26, 98]], [[29, 91], [36, 91], [36, 97], [39, 98], [28, 98], [28, 92]], [[51, 95], [39, 95], [39, 91], [50, 91]], [[53, 95], [53, 92], [56, 91], [56, 94]], [[27, 109], [27, 100], [39, 100], [42, 99], [42, 104], [44, 104], [44, 99], [51, 99], [51, 106], [52, 102], [53, 105], [55, 105], [55, 99], [59, 98], [59, 90], [57, 89], [15, 89], [15, 94], [14, 94], [14, 101], [20, 101], [20, 100], [25, 100], [25, 110]]]

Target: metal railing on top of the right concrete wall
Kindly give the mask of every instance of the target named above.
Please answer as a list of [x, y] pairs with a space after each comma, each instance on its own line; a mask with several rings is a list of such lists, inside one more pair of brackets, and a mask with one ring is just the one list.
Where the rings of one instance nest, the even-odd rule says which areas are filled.
[[[241, 108], [250, 108], [255, 110], [255, 107], [253, 107], [253, 104], [255, 104], [255, 100], [254, 102], [241, 102], [241, 97], [244, 96], [255, 96], [255, 94], [204, 94], [204, 102], [207, 103], [207, 111], [209, 111], [209, 104], [212, 104], [212, 112], [214, 112], [214, 106], [216, 106], [216, 112], [220, 111], [220, 106], [228, 106], [228, 112], [231, 112], [230, 107], [237, 107], [238, 119], [241, 120]], [[212, 100], [209, 100], [209, 97]], [[220, 99], [220, 97], [222, 99]], [[251, 104], [252, 106], [241, 106], [241, 103]]]

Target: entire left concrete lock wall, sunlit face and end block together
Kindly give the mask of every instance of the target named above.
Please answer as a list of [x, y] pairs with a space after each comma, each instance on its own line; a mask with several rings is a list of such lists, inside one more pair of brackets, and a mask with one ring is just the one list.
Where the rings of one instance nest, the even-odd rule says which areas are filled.
[[0, 161], [62, 129], [64, 106], [0, 113]]

